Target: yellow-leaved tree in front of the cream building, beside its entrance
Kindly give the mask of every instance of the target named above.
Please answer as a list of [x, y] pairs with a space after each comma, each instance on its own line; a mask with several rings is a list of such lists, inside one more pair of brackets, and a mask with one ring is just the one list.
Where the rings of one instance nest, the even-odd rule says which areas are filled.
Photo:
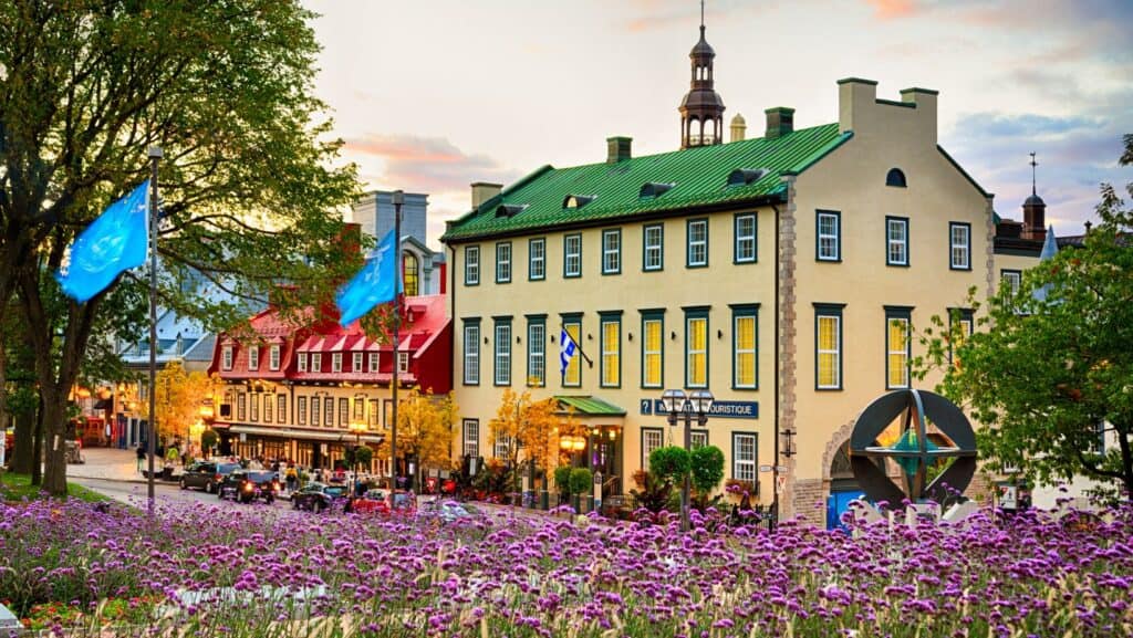
[[527, 449], [527, 459], [534, 459], [544, 471], [559, 465], [559, 417], [557, 401], [543, 399], [535, 401], [530, 392], [522, 394], [505, 389], [496, 416], [488, 426], [492, 428], [494, 457], [512, 468], [513, 488], [519, 491], [520, 448]]

